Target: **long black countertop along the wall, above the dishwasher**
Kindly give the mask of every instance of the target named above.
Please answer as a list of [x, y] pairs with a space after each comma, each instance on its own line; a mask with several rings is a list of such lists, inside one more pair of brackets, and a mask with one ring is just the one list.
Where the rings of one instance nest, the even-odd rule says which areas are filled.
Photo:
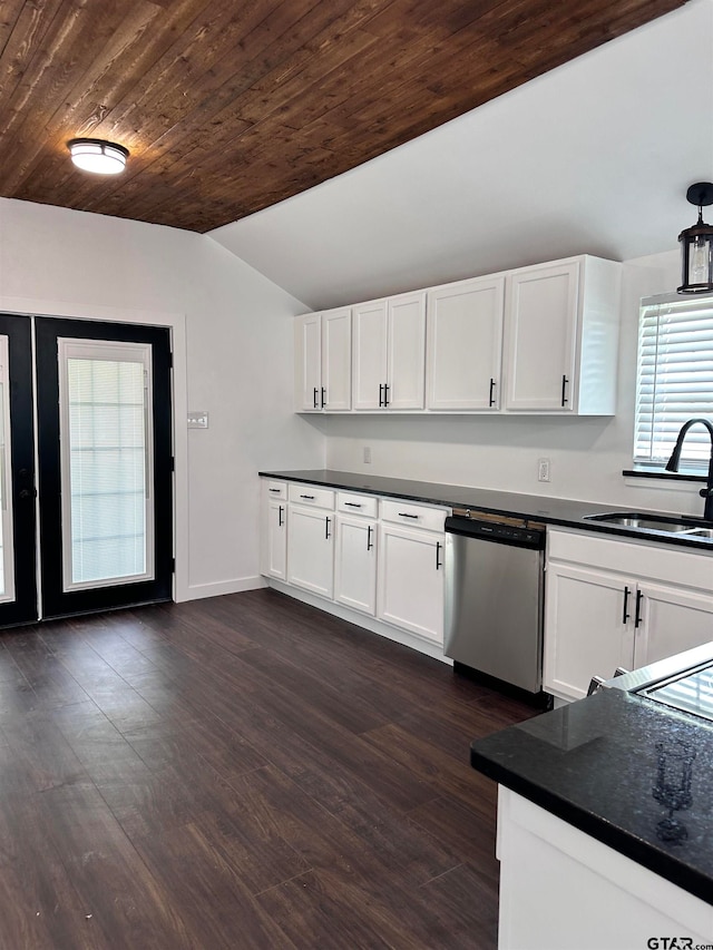
[[[647, 541], [658, 541], [699, 550], [713, 550], [713, 539], [676, 536], [670, 532], [646, 532], [643, 535], [635, 529], [608, 525], [605, 522], [587, 521], [586, 516], [604, 512], [626, 513], [646, 509], [623, 508], [617, 505], [605, 505], [592, 501], [575, 501], [566, 498], [545, 498], [537, 494], [519, 494], [512, 491], [492, 491], [470, 486], [441, 484], [430, 481], [412, 481], [401, 478], [385, 478], [360, 472], [340, 472], [332, 469], [314, 469], [302, 471], [261, 471], [265, 478], [283, 479], [286, 481], [310, 482], [325, 488], [359, 491], [367, 494], [389, 494], [409, 501], [420, 501], [428, 505], [443, 505], [448, 508], [470, 508], [489, 515], [504, 515], [521, 518], [526, 523], [560, 525], [579, 528], [599, 533], [643, 538]], [[692, 516], [685, 516], [691, 521], [701, 521]]]

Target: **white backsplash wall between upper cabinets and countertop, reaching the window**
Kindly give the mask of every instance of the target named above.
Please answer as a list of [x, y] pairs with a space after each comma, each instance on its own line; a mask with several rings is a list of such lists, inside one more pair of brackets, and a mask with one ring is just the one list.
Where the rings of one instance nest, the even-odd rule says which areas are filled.
[[[472, 484], [632, 508], [702, 513], [691, 483], [625, 480], [632, 467], [638, 303], [680, 283], [675, 251], [624, 268], [617, 413], [606, 419], [546, 417], [330, 417], [328, 467], [340, 471]], [[371, 447], [372, 463], [363, 462]], [[549, 458], [551, 481], [537, 481]], [[700, 486], [699, 486], [700, 487]]]

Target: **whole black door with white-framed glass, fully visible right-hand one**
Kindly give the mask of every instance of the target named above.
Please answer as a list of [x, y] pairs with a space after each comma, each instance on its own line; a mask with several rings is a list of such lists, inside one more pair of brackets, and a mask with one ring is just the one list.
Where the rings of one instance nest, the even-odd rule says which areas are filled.
[[166, 600], [168, 330], [36, 319], [42, 617]]

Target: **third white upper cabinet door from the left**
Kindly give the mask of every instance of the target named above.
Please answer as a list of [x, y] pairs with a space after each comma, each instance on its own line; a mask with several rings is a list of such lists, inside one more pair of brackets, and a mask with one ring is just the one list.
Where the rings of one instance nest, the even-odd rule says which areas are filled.
[[387, 302], [354, 307], [353, 408], [382, 409], [387, 384]]

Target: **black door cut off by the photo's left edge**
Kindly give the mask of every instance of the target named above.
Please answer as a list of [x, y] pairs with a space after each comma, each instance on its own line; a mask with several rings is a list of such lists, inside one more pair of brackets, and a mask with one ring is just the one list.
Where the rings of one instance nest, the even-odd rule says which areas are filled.
[[31, 324], [0, 314], [0, 626], [37, 620]]

